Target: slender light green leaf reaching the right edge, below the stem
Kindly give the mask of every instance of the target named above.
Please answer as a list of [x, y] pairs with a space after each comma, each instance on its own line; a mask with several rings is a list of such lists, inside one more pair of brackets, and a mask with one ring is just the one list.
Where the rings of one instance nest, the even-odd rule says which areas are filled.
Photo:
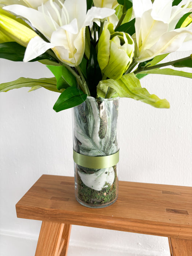
[[161, 68], [161, 69], [155, 68], [155, 69], [142, 71], [139, 74], [159, 74], [159, 75], [183, 76], [187, 78], [192, 78], [192, 73], [174, 70], [171, 68]]

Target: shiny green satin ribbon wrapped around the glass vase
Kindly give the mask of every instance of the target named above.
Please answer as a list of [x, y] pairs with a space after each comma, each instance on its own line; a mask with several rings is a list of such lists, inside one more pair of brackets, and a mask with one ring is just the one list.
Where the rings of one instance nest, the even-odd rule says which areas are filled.
[[113, 155], [106, 155], [104, 157], [90, 157], [74, 151], [73, 158], [77, 165], [91, 169], [103, 169], [114, 166], [118, 163], [119, 150]]

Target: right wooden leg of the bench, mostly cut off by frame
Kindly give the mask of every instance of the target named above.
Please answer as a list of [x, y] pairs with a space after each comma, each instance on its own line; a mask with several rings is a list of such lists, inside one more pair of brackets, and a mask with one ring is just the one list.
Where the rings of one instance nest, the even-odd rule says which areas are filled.
[[169, 237], [169, 248], [171, 256], [191, 256], [192, 240]]

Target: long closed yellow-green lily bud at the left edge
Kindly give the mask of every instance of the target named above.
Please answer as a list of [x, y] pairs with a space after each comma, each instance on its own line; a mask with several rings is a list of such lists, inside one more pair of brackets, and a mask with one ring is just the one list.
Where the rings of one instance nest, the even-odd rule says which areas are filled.
[[[0, 9], [0, 30], [4, 35], [4, 42], [15, 41], [20, 45], [27, 46], [31, 38], [37, 34], [22, 19]], [[1, 41], [2, 41], [1, 40]]]

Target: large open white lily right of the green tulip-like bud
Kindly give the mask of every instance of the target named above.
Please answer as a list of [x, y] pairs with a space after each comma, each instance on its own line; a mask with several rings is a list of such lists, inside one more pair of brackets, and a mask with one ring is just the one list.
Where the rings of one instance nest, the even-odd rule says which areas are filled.
[[[172, 7], [172, 0], [133, 0], [136, 42], [135, 61], [142, 62], [175, 51], [192, 50], [192, 24], [174, 29], [178, 20], [189, 12], [183, 1]], [[182, 7], [181, 7], [182, 6]]]

